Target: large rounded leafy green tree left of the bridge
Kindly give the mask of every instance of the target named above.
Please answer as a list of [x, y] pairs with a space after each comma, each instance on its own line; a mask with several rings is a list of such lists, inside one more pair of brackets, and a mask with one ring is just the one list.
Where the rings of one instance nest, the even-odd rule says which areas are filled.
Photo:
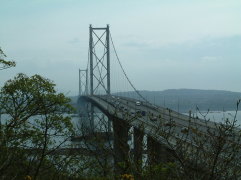
[[1, 89], [1, 179], [44, 177], [61, 159], [53, 155], [73, 133], [73, 108], [54, 87], [40, 75], [18, 74]]

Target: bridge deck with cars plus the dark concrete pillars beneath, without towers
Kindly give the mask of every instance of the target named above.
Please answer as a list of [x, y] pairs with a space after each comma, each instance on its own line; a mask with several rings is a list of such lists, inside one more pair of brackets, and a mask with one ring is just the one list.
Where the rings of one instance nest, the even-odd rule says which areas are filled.
[[[149, 102], [113, 95], [81, 96], [80, 101], [91, 103], [102, 111], [112, 123], [114, 134], [115, 169], [126, 161], [129, 153], [128, 131], [134, 128], [134, 159], [140, 162], [143, 153], [143, 136], [147, 136], [147, 152], [150, 164], [170, 161], [177, 142], [195, 146], [198, 133], [215, 131], [213, 122], [194, 118], [159, 107]], [[140, 167], [141, 168], [141, 167]]]

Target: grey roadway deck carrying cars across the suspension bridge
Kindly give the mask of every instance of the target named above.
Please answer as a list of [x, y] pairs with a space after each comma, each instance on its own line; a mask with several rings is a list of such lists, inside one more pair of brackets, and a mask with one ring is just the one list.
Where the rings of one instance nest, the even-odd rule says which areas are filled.
[[166, 135], [168, 135], [169, 142], [175, 145], [177, 139], [192, 143], [197, 131], [207, 133], [207, 131], [216, 130], [213, 122], [192, 118], [168, 108], [132, 98], [112, 95], [86, 96], [85, 98], [96, 104], [107, 115], [127, 121], [164, 144], [167, 143]]

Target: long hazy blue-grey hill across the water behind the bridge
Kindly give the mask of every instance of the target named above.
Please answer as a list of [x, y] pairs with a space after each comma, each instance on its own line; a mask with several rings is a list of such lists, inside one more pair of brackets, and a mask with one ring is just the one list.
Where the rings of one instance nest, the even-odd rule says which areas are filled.
[[[201, 111], [207, 111], [208, 109], [210, 111], [232, 111], [236, 110], [237, 100], [241, 98], [240, 92], [222, 90], [168, 89], [139, 92], [149, 102], [179, 112], [195, 111], [196, 107]], [[115, 95], [138, 99], [135, 92], [115, 93]], [[72, 104], [75, 105], [77, 96], [71, 97], [71, 99]]]

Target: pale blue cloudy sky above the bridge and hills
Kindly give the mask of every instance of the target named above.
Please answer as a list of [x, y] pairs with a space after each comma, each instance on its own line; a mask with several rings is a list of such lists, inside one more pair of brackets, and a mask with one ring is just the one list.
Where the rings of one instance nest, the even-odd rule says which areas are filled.
[[40, 74], [78, 93], [89, 25], [110, 25], [122, 65], [139, 90], [241, 92], [239, 0], [0, 0], [0, 47], [17, 73]]

